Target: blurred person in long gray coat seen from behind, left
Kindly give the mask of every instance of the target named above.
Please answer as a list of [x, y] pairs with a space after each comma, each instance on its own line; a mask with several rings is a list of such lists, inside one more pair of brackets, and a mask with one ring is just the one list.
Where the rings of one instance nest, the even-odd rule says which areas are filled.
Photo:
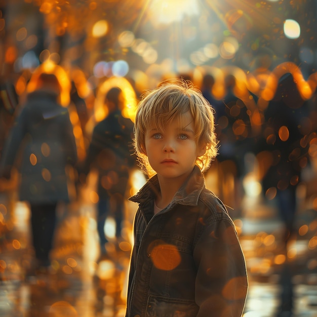
[[29, 203], [37, 268], [50, 265], [56, 207], [69, 202], [67, 165], [77, 150], [67, 108], [58, 103], [60, 85], [54, 74], [39, 75], [27, 95], [1, 157], [0, 176], [9, 179], [13, 166], [21, 175], [19, 200]]

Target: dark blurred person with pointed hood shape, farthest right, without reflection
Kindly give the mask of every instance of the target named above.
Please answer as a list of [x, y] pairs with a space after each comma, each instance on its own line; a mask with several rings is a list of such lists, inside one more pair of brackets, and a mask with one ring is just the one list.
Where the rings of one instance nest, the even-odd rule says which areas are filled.
[[307, 107], [301, 98], [291, 74], [279, 82], [274, 98], [265, 110], [265, 128], [262, 150], [271, 154], [272, 164], [263, 178], [263, 190], [276, 190], [279, 216], [285, 224], [283, 240], [287, 243], [294, 233], [296, 188], [301, 170], [307, 164], [307, 148], [300, 143], [301, 118], [307, 116]]

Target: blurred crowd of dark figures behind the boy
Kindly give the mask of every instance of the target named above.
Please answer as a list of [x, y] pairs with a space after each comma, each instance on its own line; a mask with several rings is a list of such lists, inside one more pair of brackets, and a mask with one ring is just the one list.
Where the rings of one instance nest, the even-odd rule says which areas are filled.
[[[193, 81], [214, 109], [219, 154], [206, 173], [207, 179], [213, 178], [210, 189], [230, 207], [233, 219], [246, 217], [244, 181], [252, 172], [262, 199], [276, 202], [276, 216], [284, 224], [281, 248], [287, 254], [288, 243], [298, 230], [295, 218], [303, 171], [316, 167], [316, 83], [307, 98], [291, 71], [276, 77], [275, 85], [266, 83], [261, 93], [249, 90], [245, 78], [232, 73], [221, 78], [203, 73], [199, 80], [191, 74], [177, 77]], [[124, 77], [105, 78], [91, 90], [87, 85], [42, 69], [29, 78], [22, 94], [17, 93], [17, 83], [1, 86], [2, 210], [12, 214], [18, 201], [29, 206], [34, 248], [29, 275], [50, 270], [60, 205], [85, 199], [96, 205], [97, 262], [109, 257], [107, 218], [115, 222], [116, 245], [131, 239], [125, 201], [137, 186], [132, 179], [138, 170], [133, 121], [143, 92]], [[250, 164], [250, 154], [255, 164]], [[96, 181], [86, 197], [92, 174], [97, 175]], [[308, 181], [313, 183], [314, 176]], [[304, 195], [307, 200], [311, 197], [315, 209], [316, 192], [305, 184], [301, 190], [305, 188]], [[10, 230], [7, 218], [0, 215], [1, 234]]]

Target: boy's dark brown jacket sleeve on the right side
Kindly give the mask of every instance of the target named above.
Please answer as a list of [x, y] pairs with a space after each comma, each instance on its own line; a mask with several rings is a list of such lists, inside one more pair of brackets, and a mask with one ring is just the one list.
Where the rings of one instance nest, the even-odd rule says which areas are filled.
[[194, 248], [197, 317], [241, 317], [248, 279], [245, 258], [229, 219], [207, 224]]

